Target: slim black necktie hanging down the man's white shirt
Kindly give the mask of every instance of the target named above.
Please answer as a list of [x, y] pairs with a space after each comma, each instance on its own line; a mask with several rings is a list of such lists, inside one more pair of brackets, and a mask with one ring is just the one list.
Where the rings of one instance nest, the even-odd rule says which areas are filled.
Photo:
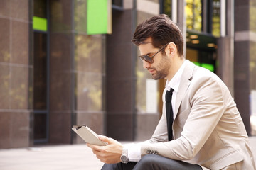
[[168, 130], [168, 140], [172, 140], [172, 123], [174, 121], [174, 112], [171, 106], [171, 97], [174, 89], [171, 91], [166, 91], [166, 120], [167, 120], [167, 130]]

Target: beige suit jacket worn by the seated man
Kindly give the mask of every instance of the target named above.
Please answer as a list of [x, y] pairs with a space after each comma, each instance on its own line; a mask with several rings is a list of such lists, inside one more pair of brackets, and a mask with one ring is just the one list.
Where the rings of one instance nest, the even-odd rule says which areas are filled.
[[158, 153], [200, 164], [203, 169], [255, 169], [247, 132], [230, 92], [213, 72], [186, 60], [176, 96], [174, 140], [167, 141], [165, 93], [163, 114], [151, 139], [141, 145], [142, 156]]

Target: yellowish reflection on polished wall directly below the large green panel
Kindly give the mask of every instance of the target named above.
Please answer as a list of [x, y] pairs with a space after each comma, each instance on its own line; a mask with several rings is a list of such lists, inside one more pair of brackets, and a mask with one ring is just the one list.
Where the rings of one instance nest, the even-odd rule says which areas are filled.
[[75, 36], [75, 107], [102, 111], [102, 37]]

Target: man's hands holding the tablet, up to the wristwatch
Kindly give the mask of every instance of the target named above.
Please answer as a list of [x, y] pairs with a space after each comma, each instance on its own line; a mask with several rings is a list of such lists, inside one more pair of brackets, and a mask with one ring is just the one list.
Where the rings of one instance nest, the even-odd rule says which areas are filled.
[[100, 140], [107, 142], [106, 146], [97, 146], [87, 143], [87, 146], [92, 149], [92, 152], [96, 154], [96, 157], [101, 162], [106, 164], [114, 164], [120, 162], [123, 146], [117, 140], [110, 137], [99, 135]]

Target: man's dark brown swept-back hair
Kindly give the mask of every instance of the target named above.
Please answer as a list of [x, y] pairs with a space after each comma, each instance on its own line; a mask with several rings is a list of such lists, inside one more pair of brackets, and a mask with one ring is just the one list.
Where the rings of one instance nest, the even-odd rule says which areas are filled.
[[151, 37], [154, 47], [160, 48], [168, 42], [174, 42], [178, 49], [178, 54], [183, 56], [183, 35], [181, 30], [165, 14], [153, 16], [140, 23], [134, 33], [132, 42], [135, 45], [141, 45]]

